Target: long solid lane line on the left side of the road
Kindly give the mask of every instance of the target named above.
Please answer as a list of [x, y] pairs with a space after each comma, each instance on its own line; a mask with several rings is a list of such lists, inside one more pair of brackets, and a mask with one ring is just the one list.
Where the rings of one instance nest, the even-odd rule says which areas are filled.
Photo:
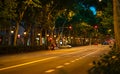
[[7, 69], [11, 69], [11, 68], [16, 68], [16, 67], [20, 67], [20, 66], [25, 66], [25, 65], [29, 65], [29, 64], [33, 64], [33, 63], [45, 61], [45, 60], [50, 60], [50, 59], [53, 59], [53, 58], [56, 58], [56, 57], [49, 57], [49, 58], [45, 58], [45, 59], [40, 59], [40, 60], [35, 60], [35, 61], [31, 61], [31, 62], [26, 62], [26, 63], [22, 63], [22, 64], [18, 64], [18, 65], [13, 65], [13, 66], [1, 68], [0, 71], [2, 71], [2, 70], [7, 70]]

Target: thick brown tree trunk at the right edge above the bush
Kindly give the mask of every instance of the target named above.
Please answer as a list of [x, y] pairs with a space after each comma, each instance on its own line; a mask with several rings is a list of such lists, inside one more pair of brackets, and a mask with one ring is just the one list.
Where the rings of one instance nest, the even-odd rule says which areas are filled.
[[113, 14], [116, 47], [120, 48], [120, 3], [118, 0], [113, 0]]

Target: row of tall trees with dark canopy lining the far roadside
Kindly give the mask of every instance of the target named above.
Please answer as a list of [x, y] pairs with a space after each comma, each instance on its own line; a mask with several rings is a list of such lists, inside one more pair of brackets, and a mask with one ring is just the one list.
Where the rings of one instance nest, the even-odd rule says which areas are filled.
[[[11, 26], [15, 26], [14, 46], [17, 43], [21, 22], [24, 23], [26, 35], [30, 33], [31, 45], [35, 44], [34, 39], [37, 33], [40, 33], [41, 45], [42, 36], [46, 36], [48, 33], [53, 35], [54, 30], [61, 30], [60, 27], [62, 27], [62, 34], [68, 34], [68, 29], [65, 30], [65, 28], [72, 26], [72, 31], [70, 31], [72, 36], [90, 37], [94, 36], [92, 34], [95, 31], [93, 26], [97, 24], [99, 33], [106, 35], [109, 29], [113, 31], [112, 12], [107, 8], [110, 3], [109, 0], [101, 3], [98, 0], [1, 0], [0, 28], [5, 29], [6, 35], [9, 37]], [[104, 9], [100, 5], [106, 8]], [[100, 17], [94, 15], [89, 9], [90, 6], [96, 7], [97, 11], [101, 10], [103, 15]], [[100, 21], [102, 22], [100, 23]]]

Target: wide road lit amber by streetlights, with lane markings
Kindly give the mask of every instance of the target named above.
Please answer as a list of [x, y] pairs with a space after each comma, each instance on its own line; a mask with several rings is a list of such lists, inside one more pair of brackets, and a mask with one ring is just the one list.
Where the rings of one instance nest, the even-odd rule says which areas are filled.
[[109, 51], [92, 45], [0, 57], [0, 74], [88, 74], [92, 61]]

